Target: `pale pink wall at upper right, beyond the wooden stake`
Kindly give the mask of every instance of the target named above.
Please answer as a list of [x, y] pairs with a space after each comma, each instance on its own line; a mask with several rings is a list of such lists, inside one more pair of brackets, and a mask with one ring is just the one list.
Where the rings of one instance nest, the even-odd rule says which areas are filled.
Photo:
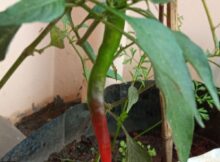
[[[207, 0], [207, 5], [210, 9], [213, 21], [215, 25], [217, 25], [220, 23], [220, 1]], [[190, 38], [204, 50], [213, 50], [214, 44], [202, 2], [200, 0], [179, 0], [179, 14], [183, 16], [182, 31], [190, 36]], [[217, 28], [216, 33], [220, 39], [220, 28]], [[215, 61], [220, 63], [219, 58], [216, 58]], [[216, 85], [220, 87], [220, 69], [213, 66], [213, 64], [211, 64], [211, 66]], [[195, 79], [198, 79], [193, 70], [192, 75]]]

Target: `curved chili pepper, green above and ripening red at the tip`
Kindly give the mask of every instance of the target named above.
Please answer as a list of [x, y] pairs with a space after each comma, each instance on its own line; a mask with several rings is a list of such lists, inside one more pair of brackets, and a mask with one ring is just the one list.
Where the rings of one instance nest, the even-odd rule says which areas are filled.
[[[126, 0], [123, 0], [124, 4]], [[107, 21], [120, 30], [124, 29], [124, 20], [107, 13]], [[88, 105], [91, 120], [97, 138], [102, 162], [111, 162], [111, 142], [104, 108], [104, 86], [106, 73], [111, 66], [117, 51], [122, 33], [105, 25], [104, 37], [90, 74], [88, 86]]]

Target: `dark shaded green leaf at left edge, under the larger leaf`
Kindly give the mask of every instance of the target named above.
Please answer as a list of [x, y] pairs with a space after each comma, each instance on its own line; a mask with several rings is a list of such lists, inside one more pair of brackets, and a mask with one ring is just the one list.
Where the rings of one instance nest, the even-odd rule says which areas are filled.
[[0, 61], [4, 60], [11, 40], [20, 26], [0, 26]]

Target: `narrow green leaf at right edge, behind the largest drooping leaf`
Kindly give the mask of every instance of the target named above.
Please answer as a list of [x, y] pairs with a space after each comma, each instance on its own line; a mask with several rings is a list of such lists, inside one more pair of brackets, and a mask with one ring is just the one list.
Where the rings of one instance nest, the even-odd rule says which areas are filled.
[[184, 57], [197, 71], [201, 79], [204, 81], [209, 93], [211, 94], [216, 107], [220, 110], [217, 89], [214, 86], [212, 72], [208, 63], [208, 59], [203, 50], [193, 43], [187, 36], [180, 32], [174, 32], [174, 36], [183, 50]]

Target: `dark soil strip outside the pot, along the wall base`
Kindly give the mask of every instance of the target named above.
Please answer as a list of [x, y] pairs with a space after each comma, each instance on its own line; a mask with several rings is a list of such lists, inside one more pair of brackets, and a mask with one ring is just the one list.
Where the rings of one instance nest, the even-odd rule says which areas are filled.
[[24, 135], [29, 136], [34, 130], [37, 130], [44, 124], [61, 115], [71, 106], [79, 103], [80, 101], [78, 100], [64, 103], [62, 98], [57, 96], [56, 98], [54, 98], [53, 102], [48, 103], [43, 108], [40, 108], [40, 111], [22, 118], [15, 125]]

